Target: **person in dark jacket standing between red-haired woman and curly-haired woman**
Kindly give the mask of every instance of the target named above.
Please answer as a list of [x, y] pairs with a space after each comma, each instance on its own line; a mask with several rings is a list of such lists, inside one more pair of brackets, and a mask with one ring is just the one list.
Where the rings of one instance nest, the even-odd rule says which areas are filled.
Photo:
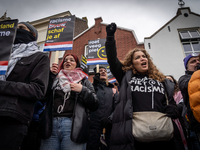
[[[99, 72], [97, 72], [98, 67]], [[112, 112], [115, 108], [118, 93], [116, 89], [114, 89], [113, 84], [108, 82], [108, 75], [105, 67], [95, 67], [94, 73], [93, 86], [99, 99], [99, 107], [96, 111], [92, 112], [90, 116], [90, 138], [87, 142], [87, 150], [99, 150], [101, 147], [104, 147], [104, 150], [109, 150]], [[104, 128], [106, 129], [105, 142], [107, 146], [104, 146], [100, 142], [100, 137]]]

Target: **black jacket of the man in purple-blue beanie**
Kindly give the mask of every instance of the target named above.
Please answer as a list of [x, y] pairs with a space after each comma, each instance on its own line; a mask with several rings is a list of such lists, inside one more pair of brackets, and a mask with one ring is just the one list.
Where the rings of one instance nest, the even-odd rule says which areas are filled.
[[183, 95], [184, 104], [187, 107], [187, 114], [190, 120], [189, 129], [191, 129], [192, 131], [195, 131], [196, 133], [200, 133], [200, 123], [195, 119], [192, 113], [192, 110], [190, 108], [190, 103], [189, 103], [189, 95], [188, 95], [188, 83], [193, 73], [194, 73], [193, 71], [185, 71], [185, 75], [179, 78], [178, 84], [179, 84], [181, 94]]

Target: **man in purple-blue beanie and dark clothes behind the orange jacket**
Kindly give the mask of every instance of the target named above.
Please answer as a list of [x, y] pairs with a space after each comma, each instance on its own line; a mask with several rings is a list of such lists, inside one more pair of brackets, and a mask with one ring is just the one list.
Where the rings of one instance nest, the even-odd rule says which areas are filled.
[[197, 134], [200, 133], [200, 124], [193, 116], [192, 110], [190, 108], [189, 95], [188, 95], [188, 83], [193, 73], [197, 71], [197, 66], [200, 64], [200, 60], [197, 54], [192, 53], [186, 56], [183, 61], [186, 71], [185, 75], [179, 78], [178, 84], [181, 93], [183, 95], [184, 104], [187, 107], [187, 115], [189, 119], [189, 131], [190, 131], [189, 133], [190, 133], [192, 150], [200, 150], [199, 140], [197, 138]]

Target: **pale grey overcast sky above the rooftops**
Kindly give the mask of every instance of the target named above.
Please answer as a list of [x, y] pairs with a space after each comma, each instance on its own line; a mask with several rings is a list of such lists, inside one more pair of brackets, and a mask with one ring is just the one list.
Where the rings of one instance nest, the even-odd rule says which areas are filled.
[[[183, 0], [185, 7], [200, 14], [200, 0]], [[117, 26], [135, 31], [139, 42], [151, 36], [176, 15], [178, 0], [0, 0], [0, 17], [19, 21], [35, 21], [51, 15], [70, 11], [79, 18], [87, 17], [88, 26], [94, 18], [103, 23], [115, 22]]]

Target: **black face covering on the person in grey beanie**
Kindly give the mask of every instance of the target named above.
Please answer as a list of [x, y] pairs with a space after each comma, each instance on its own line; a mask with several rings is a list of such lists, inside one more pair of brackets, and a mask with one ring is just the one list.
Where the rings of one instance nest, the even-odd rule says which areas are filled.
[[35, 36], [31, 32], [26, 31], [24, 29], [17, 29], [17, 34], [15, 37], [14, 44], [18, 44], [18, 43], [28, 44], [29, 42], [32, 42], [35, 40], [36, 40]]

